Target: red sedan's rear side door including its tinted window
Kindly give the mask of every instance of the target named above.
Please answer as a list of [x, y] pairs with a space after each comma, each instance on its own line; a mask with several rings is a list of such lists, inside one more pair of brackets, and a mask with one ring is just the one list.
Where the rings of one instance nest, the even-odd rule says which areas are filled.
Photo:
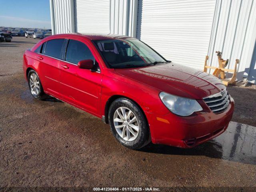
[[60, 92], [60, 59], [65, 39], [53, 39], [42, 44], [39, 68], [42, 74], [43, 88], [53, 96], [59, 96]]

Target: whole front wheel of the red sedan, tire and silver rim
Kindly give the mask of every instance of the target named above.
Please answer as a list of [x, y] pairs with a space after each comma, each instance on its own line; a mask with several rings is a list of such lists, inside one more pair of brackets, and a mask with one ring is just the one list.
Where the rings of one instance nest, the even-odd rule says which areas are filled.
[[[126, 118], [130, 113], [130, 116], [127, 119], [125, 119], [125, 117], [122, 118], [124, 112]], [[136, 118], [135, 121], [134, 117]], [[122, 122], [120, 122], [120, 120]], [[108, 111], [108, 122], [110, 122], [110, 130], [116, 140], [127, 148], [138, 150], [150, 142], [150, 131], [146, 118], [138, 105], [132, 100], [127, 98], [118, 98], [114, 100]], [[125, 127], [126, 129], [124, 130]], [[130, 135], [130, 139], [128, 134]]]

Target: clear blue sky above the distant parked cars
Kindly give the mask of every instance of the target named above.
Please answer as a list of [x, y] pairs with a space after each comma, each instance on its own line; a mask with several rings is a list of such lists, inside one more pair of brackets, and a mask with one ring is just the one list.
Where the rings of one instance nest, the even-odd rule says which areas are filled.
[[0, 26], [51, 28], [49, 0], [0, 0]]

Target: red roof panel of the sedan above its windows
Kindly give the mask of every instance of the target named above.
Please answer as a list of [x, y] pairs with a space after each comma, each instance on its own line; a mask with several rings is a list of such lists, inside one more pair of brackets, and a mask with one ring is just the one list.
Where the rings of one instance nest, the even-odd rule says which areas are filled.
[[110, 40], [110, 39], [126, 39], [126, 38], [132, 38], [129, 36], [124, 35], [116, 35], [116, 34], [81, 34], [81, 33], [68, 33], [68, 34], [58, 34], [53, 35], [52, 38], [58, 37], [58, 36], [81, 36], [88, 38], [90, 40]]

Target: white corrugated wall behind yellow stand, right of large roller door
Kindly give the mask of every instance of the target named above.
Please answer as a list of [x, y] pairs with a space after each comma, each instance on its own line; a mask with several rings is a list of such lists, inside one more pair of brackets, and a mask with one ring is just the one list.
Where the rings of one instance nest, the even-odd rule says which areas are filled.
[[[238, 80], [248, 75], [256, 40], [256, 1], [218, 0], [209, 48], [209, 64], [218, 66], [215, 51], [229, 59], [226, 68], [234, 68], [239, 59]], [[254, 64], [255, 65], [255, 64]]]

